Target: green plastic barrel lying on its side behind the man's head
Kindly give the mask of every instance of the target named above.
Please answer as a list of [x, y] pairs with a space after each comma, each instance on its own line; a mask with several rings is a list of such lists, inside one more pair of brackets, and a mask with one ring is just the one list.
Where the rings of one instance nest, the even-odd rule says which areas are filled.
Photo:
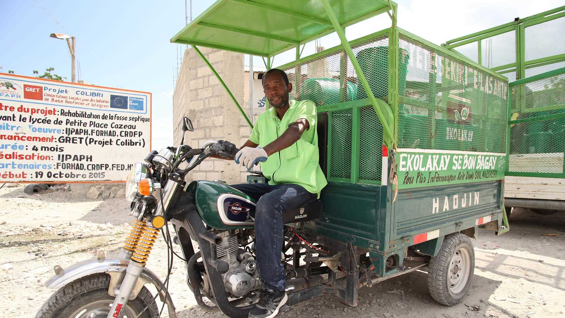
[[[304, 81], [300, 93], [301, 100], [311, 100], [320, 105], [340, 102], [340, 80], [333, 78], [311, 78]], [[346, 101], [357, 100], [357, 86], [347, 82]]]

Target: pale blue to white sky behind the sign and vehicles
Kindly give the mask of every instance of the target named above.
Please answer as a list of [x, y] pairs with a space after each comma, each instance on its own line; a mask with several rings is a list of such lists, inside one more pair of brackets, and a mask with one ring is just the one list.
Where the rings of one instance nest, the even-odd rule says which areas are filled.
[[[299, 0], [306, 1], [306, 0]], [[197, 17], [214, 1], [193, 1]], [[563, 0], [399, 0], [398, 26], [435, 44], [508, 23], [563, 5]], [[71, 79], [71, 58], [64, 40], [50, 33], [76, 37], [80, 79], [95, 85], [153, 93], [153, 148], [172, 145], [173, 76], [177, 52], [184, 45], [170, 38], [185, 25], [185, 1], [69, 1], [0, 0], [0, 72], [33, 76], [54, 67], [55, 74]], [[346, 29], [349, 40], [390, 27], [387, 15]], [[321, 39], [331, 48], [336, 35]], [[302, 56], [314, 53], [307, 45]], [[511, 53], [513, 54], [513, 53]], [[292, 61], [276, 57], [274, 65]], [[245, 65], [249, 65], [245, 57]], [[260, 58], [255, 66], [263, 66]], [[78, 67], [77, 67], [78, 70]]]

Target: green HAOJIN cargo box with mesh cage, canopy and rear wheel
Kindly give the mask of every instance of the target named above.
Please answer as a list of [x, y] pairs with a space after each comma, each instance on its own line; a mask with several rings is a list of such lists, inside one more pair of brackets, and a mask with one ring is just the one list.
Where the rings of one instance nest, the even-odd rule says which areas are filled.
[[[390, 28], [346, 39], [346, 27], [379, 14]], [[307, 42], [334, 32], [340, 45], [301, 57]], [[334, 294], [356, 306], [359, 287], [416, 269], [429, 272], [438, 302], [462, 300], [475, 265], [469, 238], [478, 226], [509, 230], [507, 78], [398, 28], [397, 5], [384, 0], [220, 0], [171, 42], [191, 45], [228, 93], [198, 46], [263, 57], [267, 69], [295, 50], [295, 61], [277, 68], [293, 83], [291, 98], [316, 104], [328, 185], [320, 217], [288, 226], [328, 253], [302, 247], [285, 267], [329, 270], [319, 284], [291, 290], [289, 304]], [[214, 211], [199, 213], [206, 222]]]

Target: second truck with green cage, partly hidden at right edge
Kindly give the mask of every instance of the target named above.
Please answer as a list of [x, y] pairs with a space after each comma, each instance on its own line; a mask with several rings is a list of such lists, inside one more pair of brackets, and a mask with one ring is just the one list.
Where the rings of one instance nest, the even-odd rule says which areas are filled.
[[510, 79], [505, 207], [565, 211], [565, 6], [442, 47]]

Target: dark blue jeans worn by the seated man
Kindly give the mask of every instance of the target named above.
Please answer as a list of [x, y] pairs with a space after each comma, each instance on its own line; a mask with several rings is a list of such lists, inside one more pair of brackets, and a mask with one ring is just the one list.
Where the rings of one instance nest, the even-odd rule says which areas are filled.
[[281, 262], [284, 244], [282, 211], [311, 203], [317, 195], [292, 183], [277, 186], [242, 183], [232, 184], [232, 187], [258, 200], [255, 208], [255, 250], [259, 275], [264, 281], [263, 288], [285, 290], [285, 274]]

